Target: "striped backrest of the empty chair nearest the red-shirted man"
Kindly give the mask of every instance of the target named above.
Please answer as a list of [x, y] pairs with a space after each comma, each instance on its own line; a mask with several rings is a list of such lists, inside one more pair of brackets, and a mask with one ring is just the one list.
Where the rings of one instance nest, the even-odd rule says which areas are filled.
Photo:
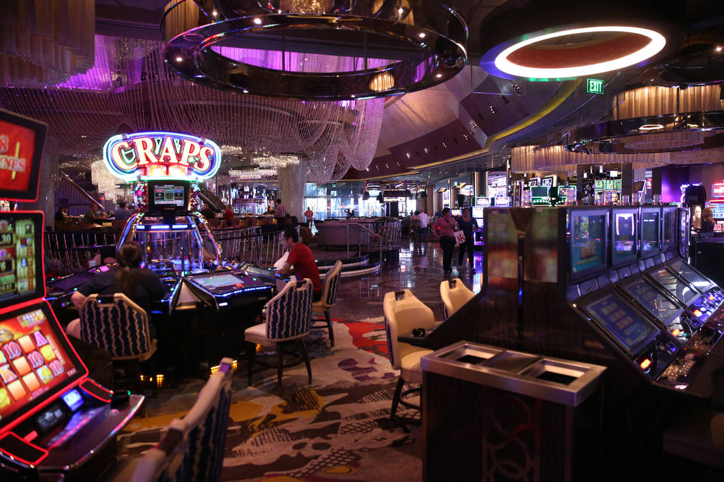
[[266, 304], [266, 337], [284, 341], [311, 330], [313, 287], [309, 278], [290, 281]]

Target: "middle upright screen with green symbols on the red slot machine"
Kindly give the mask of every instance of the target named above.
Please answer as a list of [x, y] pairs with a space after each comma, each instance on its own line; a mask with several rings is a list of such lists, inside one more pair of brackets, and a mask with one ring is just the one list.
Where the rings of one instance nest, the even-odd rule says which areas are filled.
[[0, 212], [0, 308], [45, 294], [43, 214]]

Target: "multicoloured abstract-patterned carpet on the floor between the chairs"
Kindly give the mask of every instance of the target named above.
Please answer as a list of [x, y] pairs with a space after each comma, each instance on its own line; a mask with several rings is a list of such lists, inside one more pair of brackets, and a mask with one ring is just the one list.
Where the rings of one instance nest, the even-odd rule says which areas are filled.
[[[419, 413], [400, 407], [400, 421], [390, 423], [397, 374], [387, 359], [384, 322], [335, 321], [332, 350], [326, 332], [313, 330], [306, 340], [311, 386], [302, 364], [285, 370], [284, 387], [276, 371], [266, 370], [250, 388], [240, 357], [222, 480], [421, 480]], [[121, 453], [135, 457], [153, 447], [202, 386], [188, 380], [148, 400], [146, 417], [132, 420], [120, 437]]]

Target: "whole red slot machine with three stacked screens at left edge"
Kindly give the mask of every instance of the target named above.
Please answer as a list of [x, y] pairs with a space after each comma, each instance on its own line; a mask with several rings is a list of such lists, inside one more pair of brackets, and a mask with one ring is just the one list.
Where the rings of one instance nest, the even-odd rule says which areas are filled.
[[[0, 179], [22, 179], [0, 184], [0, 197], [37, 197], [44, 136], [44, 124], [0, 111], [0, 150], [10, 148]], [[0, 212], [0, 480], [91, 480], [114, 462], [115, 437], [143, 396], [114, 396], [88, 376], [43, 278], [43, 213]]]

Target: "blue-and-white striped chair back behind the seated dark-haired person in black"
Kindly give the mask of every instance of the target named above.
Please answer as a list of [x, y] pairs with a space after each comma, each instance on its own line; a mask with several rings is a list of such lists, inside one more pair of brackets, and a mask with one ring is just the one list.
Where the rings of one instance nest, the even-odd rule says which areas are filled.
[[80, 337], [114, 358], [140, 356], [151, 350], [146, 311], [123, 293], [90, 295], [80, 307]]

